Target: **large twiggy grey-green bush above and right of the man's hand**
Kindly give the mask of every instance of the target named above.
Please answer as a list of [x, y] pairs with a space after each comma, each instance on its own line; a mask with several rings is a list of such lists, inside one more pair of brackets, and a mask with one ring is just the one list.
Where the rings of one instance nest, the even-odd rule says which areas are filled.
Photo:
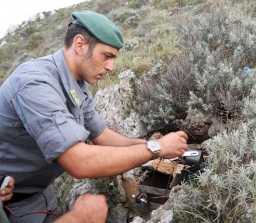
[[[212, 6], [196, 16], [191, 10], [177, 15], [174, 31], [181, 54], [163, 59], [152, 86], [140, 86], [143, 122], [165, 128], [186, 113], [239, 115], [243, 98], [256, 84], [255, 21], [233, 8]], [[245, 66], [250, 73], [244, 73]]]

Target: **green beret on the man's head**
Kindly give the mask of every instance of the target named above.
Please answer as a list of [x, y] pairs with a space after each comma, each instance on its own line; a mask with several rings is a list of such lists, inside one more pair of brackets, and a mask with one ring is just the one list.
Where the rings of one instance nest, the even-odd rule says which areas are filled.
[[72, 12], [71, 16], [75, 19], [75, 22], [84, 26], [102, 43], [116, 48], [123, 47], [122, 32], [103, 14], [86, 10], [83, 12]]

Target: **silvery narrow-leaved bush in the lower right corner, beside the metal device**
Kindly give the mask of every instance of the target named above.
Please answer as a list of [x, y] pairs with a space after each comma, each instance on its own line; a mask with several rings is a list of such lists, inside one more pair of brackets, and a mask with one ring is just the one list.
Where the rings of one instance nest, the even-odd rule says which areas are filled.
[[174, 221], [255, 222], [255, 149], [250, 124], [214, 137], [206, 146], [208, 168], [170, 197]]

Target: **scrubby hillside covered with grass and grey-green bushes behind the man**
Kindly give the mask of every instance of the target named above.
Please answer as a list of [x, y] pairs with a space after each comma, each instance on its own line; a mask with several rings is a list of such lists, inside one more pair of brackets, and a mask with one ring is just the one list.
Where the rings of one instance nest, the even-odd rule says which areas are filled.
[[[169, 201], [174, 222], [255, 222], [256, 2], [91, 0], [42, 12], [44, 19], [0, 39], [0, 85], [22, 62], [62, 48], [78, 10], [105, 14], [125, 37], [116, 70], [89, 86], [93, 95], [131, 69], [131, 109], [148, 133], [183, 129], [193, 143], [212, 139], [209, 168]], [[192, 128], [200, 126], [187, 128], [185, 119], [224, 130], [199, 137]]]

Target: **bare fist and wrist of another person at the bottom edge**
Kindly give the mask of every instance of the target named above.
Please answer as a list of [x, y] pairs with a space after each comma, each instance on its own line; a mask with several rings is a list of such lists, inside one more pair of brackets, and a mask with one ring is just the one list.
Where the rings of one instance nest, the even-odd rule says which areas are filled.
[[81, 195], [73, 209], [54, 223], [104, 223], [107, 220], [107, 201], [104, 195]]

